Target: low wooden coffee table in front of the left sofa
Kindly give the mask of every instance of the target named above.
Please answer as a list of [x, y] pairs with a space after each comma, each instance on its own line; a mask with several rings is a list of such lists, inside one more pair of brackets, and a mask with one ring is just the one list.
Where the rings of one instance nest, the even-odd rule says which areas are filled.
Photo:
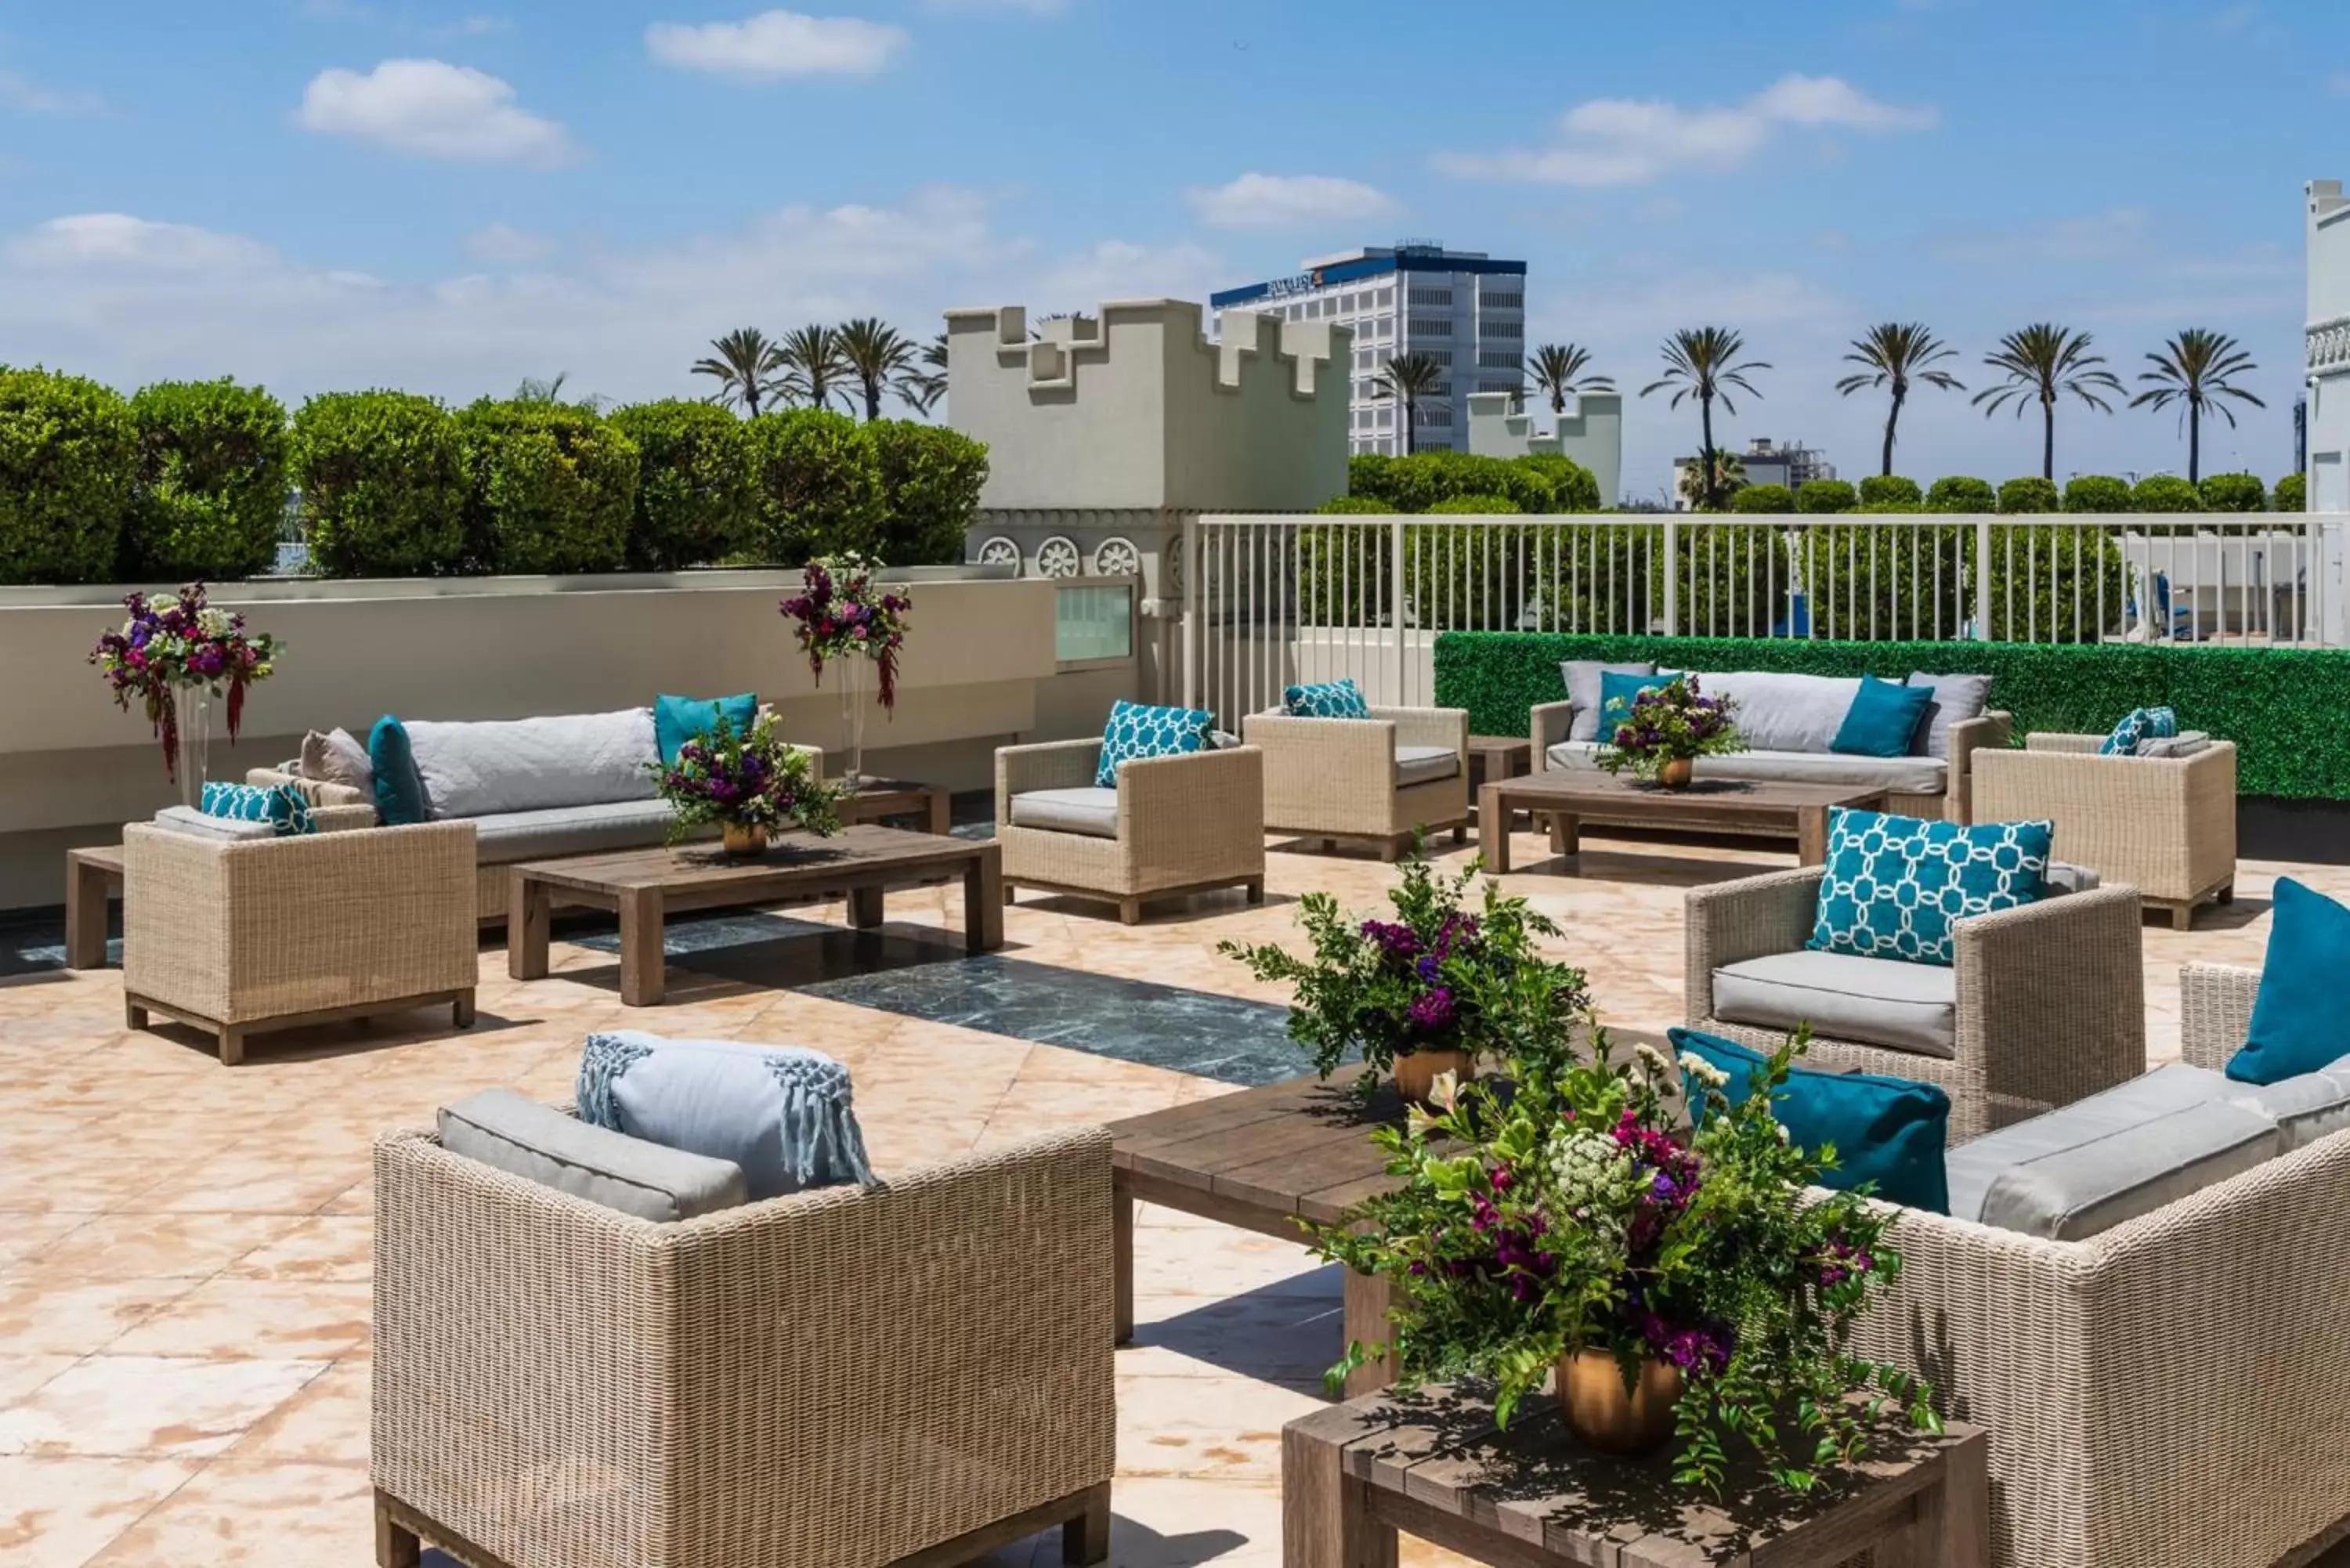
[[1003, 945], [1003, 851], [996, 844], [898, 827], [844, 827], [830, 839], [787, 832], [759, 860], [717, 846], [627, 849], [512, 867], [505, 971], [548, 973], [548, 922], [557, 903], [620, 917], [620, 1004], [656, 1006], [667, 987], [660, 931], [670, 912], [848, 898], [851, 926], [881, 924], [888, 889], [964, 879], [964, 947]]

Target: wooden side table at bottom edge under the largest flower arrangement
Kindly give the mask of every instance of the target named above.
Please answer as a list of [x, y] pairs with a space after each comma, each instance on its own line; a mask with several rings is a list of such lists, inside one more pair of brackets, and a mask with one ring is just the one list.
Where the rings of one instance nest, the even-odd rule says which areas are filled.
[[1495, 1568], [1988, 1568], [1990, 1443], [1887, 1434], [1856, 1469], [1795, 1497], [1732, 1460], [1720, 1505], [1673, 1481], [1671, 1443], [1614, 1458], [1537, 1394], [1509, 1432], [1457, 1389], [1370, 1396], [1281, 1432], [1283, 1568], [1394, 1568], [1396, 1530]]

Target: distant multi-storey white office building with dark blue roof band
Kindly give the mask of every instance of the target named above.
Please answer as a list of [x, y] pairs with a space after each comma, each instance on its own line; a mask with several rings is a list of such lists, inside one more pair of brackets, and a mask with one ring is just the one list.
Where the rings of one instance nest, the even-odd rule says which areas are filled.
[[1210, 296], [1222, 310], [1354, 329], [1347, 449], [1403, 454], [1403, 407], [1379, 397], [1377, 374], [1403, 353], [1436, 360], [1438, 390], [1419, 400], [1419, 451], [1469, 451], [1469, 395], [1525, 386], [1525, 263], [1398, 240], [1314, 256], [1290, 277]]

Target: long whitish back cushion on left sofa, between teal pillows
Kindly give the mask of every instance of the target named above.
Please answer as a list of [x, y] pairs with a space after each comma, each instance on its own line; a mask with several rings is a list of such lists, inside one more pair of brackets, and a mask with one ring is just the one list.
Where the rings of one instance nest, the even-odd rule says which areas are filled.
[[432, 820], [658, 799], [653, 710], [407, 724]]

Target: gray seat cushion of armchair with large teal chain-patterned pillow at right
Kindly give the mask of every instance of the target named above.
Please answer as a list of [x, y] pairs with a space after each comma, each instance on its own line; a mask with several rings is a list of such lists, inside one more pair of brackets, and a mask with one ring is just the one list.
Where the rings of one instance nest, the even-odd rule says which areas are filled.
[[1849, 952], [1774, 952], [1713, 971], [1713, 1016], [1887, 1051], [1958, 1056], [1958, 971]]

